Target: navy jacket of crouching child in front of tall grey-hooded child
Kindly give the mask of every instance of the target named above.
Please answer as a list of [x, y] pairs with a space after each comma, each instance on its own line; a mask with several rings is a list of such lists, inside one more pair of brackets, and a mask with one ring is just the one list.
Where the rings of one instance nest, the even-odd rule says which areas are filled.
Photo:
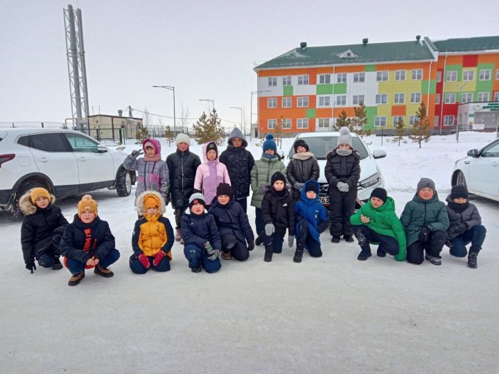
[[254, 242], [254, 235], [243, 207], [234, 202], [232, 197], [225, 205], [213, 202], [208, 213], [215, 218], [218, 232], [221, 235], [233, 233], [241, 242]]

